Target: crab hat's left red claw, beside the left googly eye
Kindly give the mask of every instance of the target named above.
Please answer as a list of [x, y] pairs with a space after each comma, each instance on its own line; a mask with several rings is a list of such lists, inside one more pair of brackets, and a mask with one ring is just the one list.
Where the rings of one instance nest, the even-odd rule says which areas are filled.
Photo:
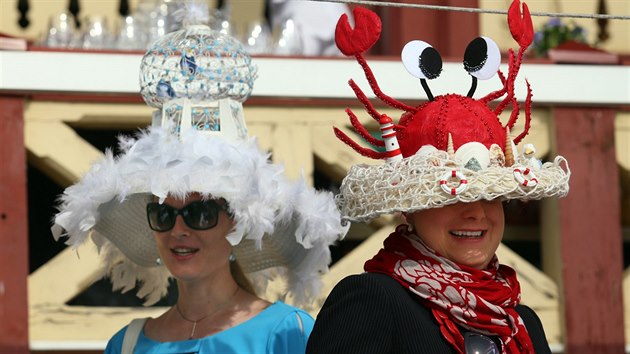
[[377, 14], [358, 6], [352, 10], [352, 14], [354, 29], [350, 27], [346, 14], [341, 15], [335, 29], [335, 43], [345, 55], [366, 52], [381, 36], [381, 19]]

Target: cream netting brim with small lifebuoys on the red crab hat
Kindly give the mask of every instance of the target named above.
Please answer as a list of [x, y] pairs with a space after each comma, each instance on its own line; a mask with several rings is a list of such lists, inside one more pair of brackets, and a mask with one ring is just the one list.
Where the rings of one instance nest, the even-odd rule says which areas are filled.
[[[563, 166], [564, 165], [564, 168]], [[567, 161], [558, 156], [535, 171], [519, 158], [511, 167], [465, 168], [445, 151], [414, 155], [394, 163], [354, 165], [344, 178], [337, 204], [342, 218], [367, 221], [383, 214], [439, 208], [492, 199], [537, 200], [569, 192]], [[529, 185], [519, 182], [524, 171]], [[531, 171], [531, 172], [530, 172]], [[445, 178], [457, 174], [456, 178]], [[443, 186], [444, 185], [444, 186]]]

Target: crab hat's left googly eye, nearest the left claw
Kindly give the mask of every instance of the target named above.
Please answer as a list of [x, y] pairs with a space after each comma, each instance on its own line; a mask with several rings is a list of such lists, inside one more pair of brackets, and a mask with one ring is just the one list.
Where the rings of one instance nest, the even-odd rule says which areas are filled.
[[419, 79], [435, 79], [442, 72], [442, 57], [429, 43], [411, 41], [400, 54], [407, 71]]

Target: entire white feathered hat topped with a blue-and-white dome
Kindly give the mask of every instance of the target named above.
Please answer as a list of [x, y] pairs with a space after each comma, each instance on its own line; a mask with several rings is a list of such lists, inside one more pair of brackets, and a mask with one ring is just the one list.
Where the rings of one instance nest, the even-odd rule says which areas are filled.
[[330, 192], [289, 181], [247, 136], [242, 102], [256, 67], [234, 38], [204, 25], [187, 26], [158, 40], [144, 55], [140, 85], [158, 108], [153, 126], [122, 137], [61, 196], [55, 238], [79, 246], [92, 239], [104, 275], [115, 289], [152, 304], [166, 294], [169, 273], [149, 228], [153, 198], [198, 192], [224, 198], [235, 227], [227, 235], [239, 265], [258, 293], [286, 279], [285, 301], [308, 304], [328, 270], [329, 246], [347, 227]]

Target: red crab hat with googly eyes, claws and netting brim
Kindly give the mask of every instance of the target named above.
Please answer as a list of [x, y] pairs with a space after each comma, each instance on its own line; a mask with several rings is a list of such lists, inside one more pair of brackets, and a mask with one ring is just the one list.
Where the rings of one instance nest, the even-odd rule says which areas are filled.
[[[337, 128], [335, 135], [361, 155], [385, 163], [355, 165], [350, 169], [337, 196], [344, 220], [367, 221], [381, 214], [439, 208], [456, 202], [537, 200], [568, 193], [571, 172], [562, 156], [542, 163], [533, 156], [532, 144], [518, 147], [531, 122], [532, 91], [527, 81], [524, 128], [513, 131], [520, 110], [514, 84], [523, 53], [533, 39], [527, 5], [523, 4], [521, 11], [520, 1], [514, 0], [508, 11], [510, 32], [519, 49], [517, 53], [509, 50], [507, 76], [499, 70], [501, 54], [494, 41], [478, 37], [470, 42], [463, 62], [472, 84], [465, 96], [449, 93], [434, 97], [427, 80], [439, 77], [440, 54], [426, 42], [407, 43], [402, 62], [411, 75], [420, 79], [428, 97], [418, 107], [381, 91], [363, 57], [380, 37], [381, 21], [375, 13], [361, 7], [355, 7], [353, 14], [354, 28], [346, 15], [339, 19], [337, 46], [345, 55], [355, 57], [376, 97], [402, 113], [397, 123], [379, 113], [358, 85], [349, 81], [357, 99], [379, 123], [381, 138], [371, 136], [354, 112], [346, 109], [352, 127], [370, 145], [385, 151], [363, 147]], [[495, 74], [503, 87], [473, 98], [477, 80], [487, 80]], [[494, 100], [499, 103], [491, 108], [489, 104]], [[499, 115], [505, 109], [511, 109], [511, 115], [503, 123]]]

